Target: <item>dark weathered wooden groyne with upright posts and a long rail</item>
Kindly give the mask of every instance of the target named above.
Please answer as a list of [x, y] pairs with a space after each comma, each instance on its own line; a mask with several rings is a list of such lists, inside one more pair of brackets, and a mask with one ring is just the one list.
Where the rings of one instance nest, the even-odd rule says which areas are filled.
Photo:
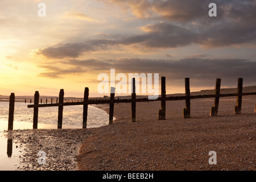
[[[190, 86], [189, 86], [189, 78], [185, 78], [185, 96], [166, 96], [166, 77], [161, 78], [161, 97], [156, 98], [155, 100], [148, 100], [148, 98], [137, 98], [135, 93], [135, 78], [132, 80], [131, 85], [131, 98], [126, 99], [115, 99], [115, 88], [111, 88], [110, 98], [108, 100], [90, 100], [89, 99], [89, 88], [85, 88], [84, 90], [84, 99], [77, 102], [64, 102], [64, 90], [60, 89], [59, 93], [59, 102], [58, 98], [56, 98], [56, 103], [53, 103], [53, 99], [51, 98], [51, 104], [39, 104], [39, 92], [36, 91], [34, 95], [34, 104], [28, 105], [28, 108], [34, 108], [34, 117], [33, 117], [33, 129], [38, 128], [38, 109], [39, 107], [58, 107], [58, 123], [57, 128], [62, 128], [62, 120], [63, 120], [63, 107], [64, 106], [72, 106], [72, 105], [83, 105], [83, 118], [82, 118], [82, 128], [85, 129], [87, 126], [87, 116], [88, 116], [88, 105], [97, 105], [97, 104], [109, 104], [109, 125], [113, 124], [113, 115], [114, 115], [114, 104], [121, 103], [131, 103], [131, 122], [136, 121], [136, 103], [137, 102], [154, 102], [160, 101], [161, 108], [159, 109], [159, 120], [166, 119], [166, 101], [177, 101], [177, 100], [185, 100], [185, 108], [183, 109], [183, 118], [191, 118], [191, 100], [197, 98], [214, 98], [213, 106], [210, 108], [210, 115], [217, 116], [218, 114], [218, 105], [220, 97], [237, 97], [237, 104], [234, 106], [234, 114], [241, 114], [242, 109], [242, 96], [250, 96], [256, 95], [256, 92], [243, 93], [242, 92], [242, 84], [243, 78], [238, 78], [237, 85], [237, 93], [229, 93], [229, 94], [221, 94], [220, 93], [220, 85], [221, 79], [216, 79], [216, 87], [215, 94], [205, 94], [205, 95], [197, 95], [191, 96]], [[26, 102], [26, 101], [25, 101]], [[10, 106], [9, 106], [9, 125], [8, 130], [13, 130], [13, 118], [14, 118], [14, 103], [15, 103], [15, 95], [11, 93], [10, 96]], [[31, 103], [31, 100], [30, 100]], [[42, 103], [42, 99], [41, 99]], [[254, 109], [254, 113], [256, 113], [256, 105]]]

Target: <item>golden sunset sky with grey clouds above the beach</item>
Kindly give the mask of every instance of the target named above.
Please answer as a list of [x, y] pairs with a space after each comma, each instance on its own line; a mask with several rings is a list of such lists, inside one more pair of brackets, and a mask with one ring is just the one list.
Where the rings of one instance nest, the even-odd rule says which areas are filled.
[[256, 85], [255, 9], [253, 0], [1, 1], [0, 95], [108, 95], [97, 77], [110, 69], [166, 76], [167, 94], [184, 93], [185, 77], [191, 91], [213, 89], [216, 78], [221, 88], [238, 77]]

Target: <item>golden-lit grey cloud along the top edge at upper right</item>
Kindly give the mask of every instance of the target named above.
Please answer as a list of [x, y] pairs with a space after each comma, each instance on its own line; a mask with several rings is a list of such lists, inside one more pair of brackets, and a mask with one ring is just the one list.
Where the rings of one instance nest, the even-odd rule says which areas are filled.
[[[224, 15], [234, 16], [250, 16], [255, 15], [254, 0], [102, 0], [109, 4], [116, 4], [122, 9], [131, 9], [137, 18], [158, 18], [176, 22], [188, 22], [203, 20], [205, 22], [206, 14], [208, 14], [210, 3], [217, 4], [218, 18]], [[255, 17], [255, 16], [254, 16]], [[244, 17], [245, 18], [245, 17]]]

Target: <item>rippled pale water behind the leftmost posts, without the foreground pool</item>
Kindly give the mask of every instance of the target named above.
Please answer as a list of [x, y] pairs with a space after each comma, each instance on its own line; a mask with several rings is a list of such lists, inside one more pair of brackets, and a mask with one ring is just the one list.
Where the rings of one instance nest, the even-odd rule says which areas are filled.
[[[15, 102], [14, 106], [14, 130], [32, 129], [33, 108], [28, 108], [28, 104]], [[82, 128], [83, 106], [63, 107], [63, 128]], [[57, 129], [58, 107], [39, 107], [38, 129]], [[8, 129], [9, 102], [0, 102], [0, 131]], [[88, 106], [87, 127], [100, 127], [108, 125], [109, 115], [106, 111], [94, 106]]]

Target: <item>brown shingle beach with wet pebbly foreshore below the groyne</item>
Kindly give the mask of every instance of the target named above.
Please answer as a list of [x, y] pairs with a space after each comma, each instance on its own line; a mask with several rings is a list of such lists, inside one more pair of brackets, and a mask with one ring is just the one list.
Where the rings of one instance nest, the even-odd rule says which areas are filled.
[[[235, 97], [191, 100], [191, 117], [183, 119], [185, 101], [167, 101], [166, 120], [158, 120], [160, 102], [115, 104], [113, 125], [96, 129], [9, 131], [23, 152], [17, 170], [255, 170], [255, 96], [243, 97], [242, 114], [234, 115]], [[108, 112], [108, 105], [97, 107]], [[14, 144], [14, 147], [15, 147]], [[46, 152], [45, 165], [37, 155]], [[209, 151], [217, 164], [210, 165]]]

